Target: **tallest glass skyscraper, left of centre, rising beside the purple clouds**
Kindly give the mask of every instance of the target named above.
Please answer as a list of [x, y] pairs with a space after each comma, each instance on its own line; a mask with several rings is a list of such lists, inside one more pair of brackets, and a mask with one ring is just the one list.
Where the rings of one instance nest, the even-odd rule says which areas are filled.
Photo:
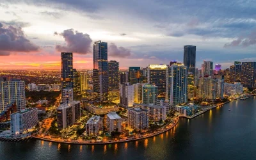
[[93, 91], [108, 99], [108, 43], [100, 40], [93, 44]]

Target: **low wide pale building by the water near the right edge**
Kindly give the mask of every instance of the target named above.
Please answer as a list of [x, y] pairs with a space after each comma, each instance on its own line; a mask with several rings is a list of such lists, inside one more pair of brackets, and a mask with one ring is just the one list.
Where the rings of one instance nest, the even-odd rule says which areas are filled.
[[240, 82], [224, 83], [224, 94], [225, 95], [240, 95], [243, 94], [243, 84]]

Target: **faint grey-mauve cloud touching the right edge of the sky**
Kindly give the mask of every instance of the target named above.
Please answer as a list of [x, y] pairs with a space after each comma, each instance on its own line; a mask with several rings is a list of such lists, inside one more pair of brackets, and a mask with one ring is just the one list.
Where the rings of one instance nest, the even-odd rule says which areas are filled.
[[256, 44], [256, 31], [252, 31], [246, 38], [239, 37], [236, 40], [233, 40], [230, 43], [225, 44], [223, 47], [236, 47], [236, 46], [242, 46], [242, 47], [248, 47], [250, 45]]

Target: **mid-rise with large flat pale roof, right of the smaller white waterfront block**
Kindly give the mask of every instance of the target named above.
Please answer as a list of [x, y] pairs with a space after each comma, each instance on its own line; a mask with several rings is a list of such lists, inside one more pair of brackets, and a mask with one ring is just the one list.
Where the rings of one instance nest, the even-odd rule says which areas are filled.
[[107, 114], [107, 129], [111, 133], [113, 131], [121, 132], [122, 118], [118, 116], [115, 112], [110, 112]]

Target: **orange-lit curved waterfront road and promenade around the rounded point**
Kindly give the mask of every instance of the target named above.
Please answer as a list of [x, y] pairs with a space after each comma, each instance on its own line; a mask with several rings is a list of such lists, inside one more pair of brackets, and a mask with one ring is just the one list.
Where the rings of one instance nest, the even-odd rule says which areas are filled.
[[79, 144], [79, 145], [100, 145], [100, 144], [111, 144], [111, 143], [123, 143], [128, 141], [137, 141], [137, 140], [143, 140], [145, 138], [150, 138], [157, 136], [159, 134], [162, 134], [163, 132], [169, 131], [172, 129], [177, 123], [179, 122], [179, 116], [177, 118], [173, 119], [172, 124], [166, 124], [163, 127], [155, 130], [146, 132], [145, 134], [137, 134], [132, 137], [127, 138], [120, 138], [119, 140], [105, 140], [104, 138], [102, 140], [64, 140], [63, 138], [51, 138], [51, 136], [33, 136], [33, 138], [36, 138], [38, 140], [44, 140], [44, 141], [52, 141], [56, 143], [68, 143], [68, 144]]

